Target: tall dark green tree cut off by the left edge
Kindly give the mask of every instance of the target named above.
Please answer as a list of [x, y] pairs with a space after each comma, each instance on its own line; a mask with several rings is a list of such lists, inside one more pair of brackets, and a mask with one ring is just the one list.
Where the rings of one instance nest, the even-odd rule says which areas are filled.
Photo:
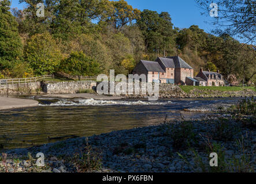
[[10, 1], [0, 1], [0, 70], [12, 68], [23, 55], [18, 24], [9, 10]]

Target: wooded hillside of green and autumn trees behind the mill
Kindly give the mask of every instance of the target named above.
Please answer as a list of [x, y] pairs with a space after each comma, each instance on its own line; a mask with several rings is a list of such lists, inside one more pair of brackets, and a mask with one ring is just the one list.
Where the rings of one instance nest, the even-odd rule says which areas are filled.
[[[133, 9], [124, 0], [0, 2], [0, 78], [62, 71], [75, 75], [129, 74], [143, 60], [179, 55], [195, 69], [220, 70], [230, 81], [256, 83], [255, 46], [228, 34], [213, 36], [191, 25], [179, 29], [167, 12]], [[181, 7], [180, 7], [181, 8]]]

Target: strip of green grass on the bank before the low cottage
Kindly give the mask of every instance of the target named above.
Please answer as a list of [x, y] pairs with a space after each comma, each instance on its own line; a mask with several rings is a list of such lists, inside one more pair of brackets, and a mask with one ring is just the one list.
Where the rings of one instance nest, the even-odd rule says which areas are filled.
[[185, 91], [185, 93], [190, 93], [190, 91], [194, 89], [206, 91], [206, 90], [213, 90], [213, 91], [243, 91], [244, 89], [247, 90], [254, 90], [254, 87], [235, 87], [235, 86], [180, 86], [180, 88]]

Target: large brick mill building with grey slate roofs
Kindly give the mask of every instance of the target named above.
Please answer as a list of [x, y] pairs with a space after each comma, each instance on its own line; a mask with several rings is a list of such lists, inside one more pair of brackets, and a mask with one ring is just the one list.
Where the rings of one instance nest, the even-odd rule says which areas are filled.
[[179, 56], [157, 57], [155, 62], [140, 60], [133, 70], [134, 74], [153, 74], [147, 82], [185, 85], [187, 77], [194, 77], [194, 69]]

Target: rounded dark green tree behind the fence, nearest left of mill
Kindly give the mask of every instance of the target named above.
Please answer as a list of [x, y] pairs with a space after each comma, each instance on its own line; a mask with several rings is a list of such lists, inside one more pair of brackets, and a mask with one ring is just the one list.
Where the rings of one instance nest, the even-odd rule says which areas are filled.
[[86, 56], [83, 52], [72, 52], [71, 55], [61, 62], [61, 70], [69, 75], [95, 76], [99, 72], [99, 63]]

